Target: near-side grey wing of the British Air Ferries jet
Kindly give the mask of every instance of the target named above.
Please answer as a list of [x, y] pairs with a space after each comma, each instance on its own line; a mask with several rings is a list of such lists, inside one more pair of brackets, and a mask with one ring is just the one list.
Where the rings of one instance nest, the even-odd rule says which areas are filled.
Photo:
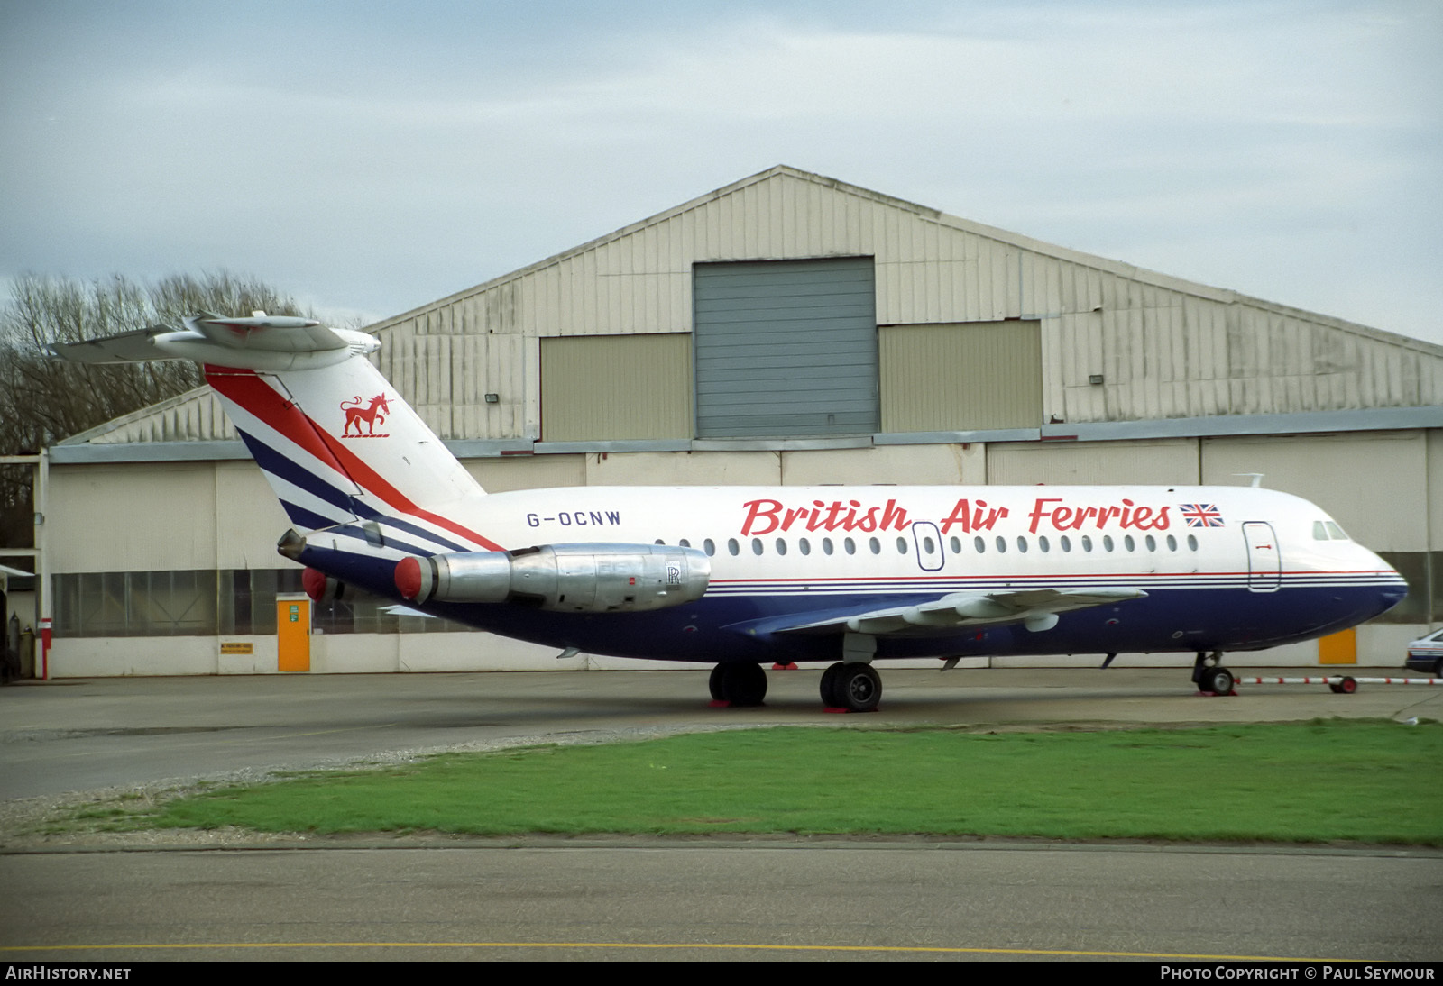
[[867, 633], [873, 636], [928, 636], [962, 627], [1020, 623], [1027, 630], [1051, 630], [1059, 613], [1137, 600], [1136, 588], [1025, 588], [996, 592], [949, 592], [929, 603], [895, 605], [830, 616], [791, 626], [769, 626], [772, 633]]

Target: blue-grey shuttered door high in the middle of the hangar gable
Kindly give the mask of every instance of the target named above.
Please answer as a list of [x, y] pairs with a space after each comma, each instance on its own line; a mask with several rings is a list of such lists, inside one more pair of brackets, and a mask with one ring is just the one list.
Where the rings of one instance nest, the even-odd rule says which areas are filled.
[[694, 271], [698, 438], [877, 431], [870, 257]]

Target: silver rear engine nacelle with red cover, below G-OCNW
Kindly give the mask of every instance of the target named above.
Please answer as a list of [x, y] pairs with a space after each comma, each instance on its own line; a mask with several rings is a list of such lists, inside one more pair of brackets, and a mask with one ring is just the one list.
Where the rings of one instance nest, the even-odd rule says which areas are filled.
[[674, 545], [541, 545], [468, 551], [395, 565], [416, 603], [514, 603], [563, 613], [664, 610], [700, 600], [711, 561]]

